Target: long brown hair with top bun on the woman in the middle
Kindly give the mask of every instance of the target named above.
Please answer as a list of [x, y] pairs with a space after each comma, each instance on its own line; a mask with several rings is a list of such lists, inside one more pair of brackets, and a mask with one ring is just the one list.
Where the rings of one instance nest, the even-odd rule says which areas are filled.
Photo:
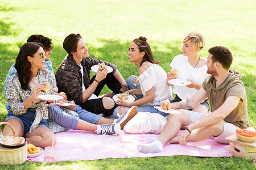
[[138, 45], [139, 52], [145, 52], [144, 57], [141, 61], [141, 65], [145, 61], [155, 63], [155, 64], [159, 63], [159, 61], [157, 61], [154, 58], [153, 53], [152, 53], [151, 48], [150, 48], [150, 45], [147, 43], [147, 38], [146, 37], [140, 36], [139, 39], [135, 39], [135, 40], [133, 40], [133, 42], [135, 42], [135, 44]]

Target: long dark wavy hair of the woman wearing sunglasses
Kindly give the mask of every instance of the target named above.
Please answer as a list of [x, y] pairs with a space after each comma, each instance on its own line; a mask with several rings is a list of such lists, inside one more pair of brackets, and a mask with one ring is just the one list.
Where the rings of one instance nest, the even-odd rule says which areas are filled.
[[43, 45], [37, 42], [27, 42], [19, 50], [14, 67], [17, 70], [19, 82], [23, 90], [31, 90], [29, 83], [32, 80], [32, 71], [31, 63], [28, 61], [27, 56], [33, 57], [40, 47], [43, 48]]

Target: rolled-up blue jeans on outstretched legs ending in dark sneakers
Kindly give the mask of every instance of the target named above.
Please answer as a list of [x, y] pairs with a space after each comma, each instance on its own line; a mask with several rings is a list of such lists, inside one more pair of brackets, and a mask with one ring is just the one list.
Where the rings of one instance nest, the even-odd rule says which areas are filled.
[[96, 122], [101, 118], [101, 116], [97, 114], [85, 111], [79, 105], [76, 105], [74, 111], [79, 114], [79, 117], [75, 117], [71, 114], [63, 112], [62, 109], [60, 107], [57, 107], [56, 105], [48, 105], [49, 119], [69, 129], [76, 129], [79, 118], [91, 124], [96, 124]]

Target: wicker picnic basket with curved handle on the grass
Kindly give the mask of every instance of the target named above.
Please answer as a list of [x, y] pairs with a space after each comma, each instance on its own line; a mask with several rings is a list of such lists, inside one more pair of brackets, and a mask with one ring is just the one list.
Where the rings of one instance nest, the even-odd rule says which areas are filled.
[[[0, 122], [0, 125], [9, 125], [13, 130], [13, 134], [15, 135], [15, 131], [13, 126], [8, 122]], [[0, 164], [23, 164], [27, 159], [27, 142], [24, 146], [18, 148], [6, 148], [0, 146]]]

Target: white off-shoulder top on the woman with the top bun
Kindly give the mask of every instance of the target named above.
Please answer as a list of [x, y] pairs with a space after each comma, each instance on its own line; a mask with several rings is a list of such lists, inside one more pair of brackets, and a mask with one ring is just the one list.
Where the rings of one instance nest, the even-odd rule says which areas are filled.
[[152, 64], [139, 76], [143, 96], [146, 96], [146, 92], [154, 87], [155, 100], [148, 103], [149, 105], [160, 105], [163, 100], [173, 99], [172, 89], [168, 86], [166, 78], [166, 71], [156, 64]]

